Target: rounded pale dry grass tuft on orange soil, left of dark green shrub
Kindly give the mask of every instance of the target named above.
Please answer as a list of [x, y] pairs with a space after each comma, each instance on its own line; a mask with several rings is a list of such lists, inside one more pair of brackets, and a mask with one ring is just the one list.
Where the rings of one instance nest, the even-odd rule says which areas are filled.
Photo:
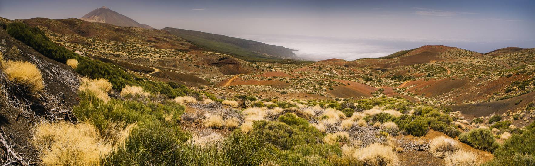
[[431, 139], [429, 143], [429, 152], [435, 157], [444, 157], [449, 153], [453, 153], [461, 148], [461, 145], [450, 137], [440, 136]]

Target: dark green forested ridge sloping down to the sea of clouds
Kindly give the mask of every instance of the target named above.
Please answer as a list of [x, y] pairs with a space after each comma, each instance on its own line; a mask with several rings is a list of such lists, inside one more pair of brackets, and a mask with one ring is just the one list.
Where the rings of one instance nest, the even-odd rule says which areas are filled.
[[228, 53], [245, 60], [273, 60], [292, 58], [294, 49], [274, 46], [258, 41], [210, 34], [207, 32], [164, 28], [173, 35], [184, 38], [205, 49]]

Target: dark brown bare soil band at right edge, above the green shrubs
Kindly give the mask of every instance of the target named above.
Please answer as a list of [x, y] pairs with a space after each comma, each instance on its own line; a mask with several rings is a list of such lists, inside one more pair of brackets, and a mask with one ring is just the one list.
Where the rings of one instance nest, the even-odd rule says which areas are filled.
[[[515, 105], [515, 101], [519, 99], [522, 99], [522, 102]], [[535, 101], [535, 92], [513, 98], [502, 99], [500, 101], [476, 104], [457, 104], [450, 105], [448, 107], [452, 108], [453, 111], [460, 111], [467, 118], [476, 118], [487, 116], [493, 113], [503, 114], [508, 110], [515, 111], [533, 101]]]

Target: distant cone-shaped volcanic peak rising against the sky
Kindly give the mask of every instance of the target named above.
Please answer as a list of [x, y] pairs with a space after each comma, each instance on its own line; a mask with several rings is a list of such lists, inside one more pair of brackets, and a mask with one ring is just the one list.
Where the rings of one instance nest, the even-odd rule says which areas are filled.
[[89, 22], [109, 23], [121, 27], [141, 27], [146, 29], [154, 29], [147, 24], [141, 24], [123, 14], [112, 11], [106, 6], [95, 9], [86, 15], [83, 15], [80, 19]]

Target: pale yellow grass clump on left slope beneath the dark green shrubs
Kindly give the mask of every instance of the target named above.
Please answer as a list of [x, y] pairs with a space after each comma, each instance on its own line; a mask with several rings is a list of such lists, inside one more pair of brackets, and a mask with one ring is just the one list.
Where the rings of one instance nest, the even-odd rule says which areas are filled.
[[108, 92], [111, 90], [111, 83], [102, 78], [89, 79], [85, 77], [80, 79], [80, 87], [78, 90], [86, 91], [102, 99], [104, 102], [108, 102], [110, 100]]

